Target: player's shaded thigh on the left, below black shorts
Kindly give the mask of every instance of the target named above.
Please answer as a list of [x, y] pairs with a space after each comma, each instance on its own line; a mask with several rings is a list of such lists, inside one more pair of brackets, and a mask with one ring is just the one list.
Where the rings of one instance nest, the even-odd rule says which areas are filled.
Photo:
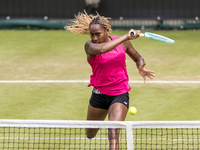
[[87, 120], [104, 120], [106, 118], [107, 113], [108, 110], [106, 109], [95, 108], [89, 105], [87, 112]]

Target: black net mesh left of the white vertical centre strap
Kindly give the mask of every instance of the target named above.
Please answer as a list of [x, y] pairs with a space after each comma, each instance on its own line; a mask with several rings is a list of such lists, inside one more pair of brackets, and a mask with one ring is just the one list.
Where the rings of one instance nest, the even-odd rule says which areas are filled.
[[[88, 150], [109, 149], [108, 129], [88, 139], [83, 128], [1, 127], [0, 149]], [[120, 132], [120, 149], [126, 147], [126, 131]]]

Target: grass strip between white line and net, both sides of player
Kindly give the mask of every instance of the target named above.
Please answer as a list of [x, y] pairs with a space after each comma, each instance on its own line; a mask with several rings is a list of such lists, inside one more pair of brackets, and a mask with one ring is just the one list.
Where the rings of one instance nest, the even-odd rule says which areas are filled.
[[[135, 120], [198, 120], [199, 85], [130, 84]], [[1, 84], [2, 119], [85, 120], [92, 88], [85, 83]]]

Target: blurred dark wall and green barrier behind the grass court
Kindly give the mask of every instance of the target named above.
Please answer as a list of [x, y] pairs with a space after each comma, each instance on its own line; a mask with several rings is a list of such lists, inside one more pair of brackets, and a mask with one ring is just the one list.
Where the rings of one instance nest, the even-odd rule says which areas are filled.
[[0, 0], [0, 28], [63, 29], [84, 9], [114, 29], [199, 29], [200, 0]]

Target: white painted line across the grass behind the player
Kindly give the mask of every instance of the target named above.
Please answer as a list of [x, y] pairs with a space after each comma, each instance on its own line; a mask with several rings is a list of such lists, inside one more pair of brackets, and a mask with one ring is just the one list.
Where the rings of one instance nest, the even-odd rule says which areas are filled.
[[[0, 83], [89, 83], [89, 80], [0, 80]], [[144, 83], [131, 80], [129, 83]], [[200, 83], [200, 81], [146, 81], [146, 83]]]

